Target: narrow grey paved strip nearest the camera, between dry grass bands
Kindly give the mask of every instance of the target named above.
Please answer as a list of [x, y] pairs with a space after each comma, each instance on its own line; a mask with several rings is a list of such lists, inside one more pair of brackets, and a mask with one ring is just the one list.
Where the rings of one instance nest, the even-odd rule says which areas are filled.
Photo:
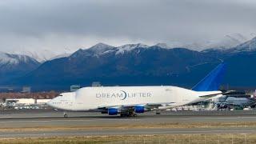
[[114, 135], [156, 135], [156, 134], [255, 134], [254, 128], [247, 129], [133, 129], [133, 130], [48, 130], [1, 132], [0, 138], [44, 138], [63, 136], [114, 136]]

